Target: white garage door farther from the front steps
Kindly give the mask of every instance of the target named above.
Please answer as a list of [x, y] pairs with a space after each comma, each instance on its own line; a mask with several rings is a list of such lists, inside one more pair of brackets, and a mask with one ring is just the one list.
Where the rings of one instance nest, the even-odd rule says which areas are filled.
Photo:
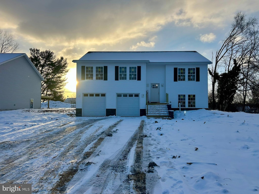
[[106, 116], [105, 94], [84, 94], [82, 109], [82, 116]]

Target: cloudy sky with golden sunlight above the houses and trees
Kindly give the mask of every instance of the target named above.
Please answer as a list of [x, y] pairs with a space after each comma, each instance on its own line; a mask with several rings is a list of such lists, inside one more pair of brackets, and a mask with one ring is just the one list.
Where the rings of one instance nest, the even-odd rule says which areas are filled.
[[190, 51], [211, 59], [234, 15], [259, 18], [258, 0], [1, 0], [0, 28], [19, 53], [50, 49], [68, 59], [66, 91], [75, 91], [72, 62], [88, 51]]

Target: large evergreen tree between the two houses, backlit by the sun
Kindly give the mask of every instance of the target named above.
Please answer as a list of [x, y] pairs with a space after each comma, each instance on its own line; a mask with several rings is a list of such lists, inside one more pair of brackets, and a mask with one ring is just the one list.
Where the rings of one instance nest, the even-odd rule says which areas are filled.
[[64, 101], [64, 86], [66, 85], [66, 74], [68, 62], [64, 57], [56, 59], [51, 50], [40, 51], [30, 48], [30, 60], [41, 73], [44, 81], [41, 83], [41, 94], [53, 96], [52, 100]]

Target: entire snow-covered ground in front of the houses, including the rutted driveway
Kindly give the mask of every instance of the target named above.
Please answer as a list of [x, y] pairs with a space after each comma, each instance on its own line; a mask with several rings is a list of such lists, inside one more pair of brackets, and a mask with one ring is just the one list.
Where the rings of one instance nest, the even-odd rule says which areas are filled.
[[259, 193], [258, 114], [74, 117], [62, 107], [0, 112], [0, 183], [32, 183], [33, 193]]

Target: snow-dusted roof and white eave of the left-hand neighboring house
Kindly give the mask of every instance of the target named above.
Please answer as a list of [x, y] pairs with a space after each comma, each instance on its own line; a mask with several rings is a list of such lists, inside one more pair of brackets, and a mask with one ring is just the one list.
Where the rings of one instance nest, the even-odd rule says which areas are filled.
[[24, 56], [26, 58], [26, 60], [28, 61], [28, 63], [30, 63], [30, 65], [32, 66], [32, 68], [36, 71], [36, 73], [40, 76], [41, 80], [44, 80], [44, 78], [42, 77], [42, 75], [40, 74], [40, 72], [37, 70], [37, 68], [35, 67], [35, 65], [33, 65], [33, 63], [31, 62], [31, 60], [29, 59], [29, 57], [25, 54], [25, 53], [0, 53], [0, 65], [7, 63], [9, 61], [12, 61], [14, 59], [17, 59], [19, 57]]

